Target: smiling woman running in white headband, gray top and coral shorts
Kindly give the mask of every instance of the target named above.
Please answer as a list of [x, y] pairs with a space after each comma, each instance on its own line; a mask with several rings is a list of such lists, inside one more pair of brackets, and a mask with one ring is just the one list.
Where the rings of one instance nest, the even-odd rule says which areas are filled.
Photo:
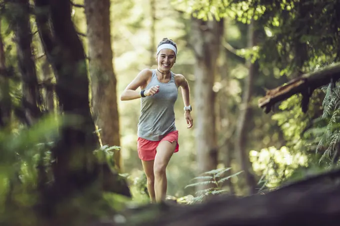
[[[176, 55], [176, 43], [163, 38], [157, 46], [157, 69], [140, 71], [120, 96], [122, 101], [141, 98], [137, 151], [146, 175], [151, 203], [165, 201], [166, 166], [172, 154], [178, 152], [178, 131], [173, 109], [178, 87], [182, 91], [187, 128], [193, 125], [188, 83], [183, 75], [171, 72]], [[136, 91], [138, 87], [140, 92]]]

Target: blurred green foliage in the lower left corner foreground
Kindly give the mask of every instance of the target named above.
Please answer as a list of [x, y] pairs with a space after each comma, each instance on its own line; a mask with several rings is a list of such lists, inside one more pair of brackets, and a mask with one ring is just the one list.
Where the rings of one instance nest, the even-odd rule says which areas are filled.
[[[63, 120], [58, 120], [62, 125]], [[31, 210], [38, 202], [40, 169], [44, 169], [44, 183], [52, 180], [50, 174], [51, 141], [57, 140], [57, 121], [46, 117], [29, 129], [17, 129], [10, 132], [0, 131], [1, 173], [0, 179], [0, 224], [8, 220], [17, 225], [34, 222]], [[11, 211], [14, 208], [16, 211]], [[29, 215], [27, 215], [29, 214]], [[29, 219], [27, 216], [30, 216]], [[8, 219], [7, 219], [8, 218]]]

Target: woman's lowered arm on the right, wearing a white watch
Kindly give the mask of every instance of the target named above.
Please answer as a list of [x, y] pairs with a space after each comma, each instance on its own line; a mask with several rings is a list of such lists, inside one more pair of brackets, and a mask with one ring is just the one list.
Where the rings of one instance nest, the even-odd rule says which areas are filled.
[[190, 87], [183, 75], [177, 74], [176, 77], [176, 83], [178, 84], [178, 86], [180, 86], [182, 91], [184, 106], [189, 108], [189, 110], [184, 110], [184, 118], [186, 120], [186, 123], [188, 124], [187, 128], [189, 129], [193, 125], [193, 119], [190, 114], [190, 111], [192, 110], [190, 106]]

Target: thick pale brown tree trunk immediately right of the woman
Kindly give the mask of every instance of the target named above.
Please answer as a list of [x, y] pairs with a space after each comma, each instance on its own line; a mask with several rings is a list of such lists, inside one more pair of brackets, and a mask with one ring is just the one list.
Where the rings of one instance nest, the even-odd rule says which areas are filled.
[[[191, 43], [195, 55], [194, 115], [198, 173], [217, 167], [215, 93], [212, 87], [222, 34], [222, 20], [218, 22], [191, 18]], [[197, 190], [205, 188], [198, 186]]]

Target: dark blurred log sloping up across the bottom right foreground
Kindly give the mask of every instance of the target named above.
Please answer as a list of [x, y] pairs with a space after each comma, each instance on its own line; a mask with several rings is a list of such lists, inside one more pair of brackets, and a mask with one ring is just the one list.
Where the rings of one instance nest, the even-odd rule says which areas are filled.
[[266, 195], [216, 196], [190, 206], [148, 205], [125, 217], [130, 223], [127, 225], [133, 226], [337, 226], [340, 220], [339, 178], [340, 170], [336, 170]]

